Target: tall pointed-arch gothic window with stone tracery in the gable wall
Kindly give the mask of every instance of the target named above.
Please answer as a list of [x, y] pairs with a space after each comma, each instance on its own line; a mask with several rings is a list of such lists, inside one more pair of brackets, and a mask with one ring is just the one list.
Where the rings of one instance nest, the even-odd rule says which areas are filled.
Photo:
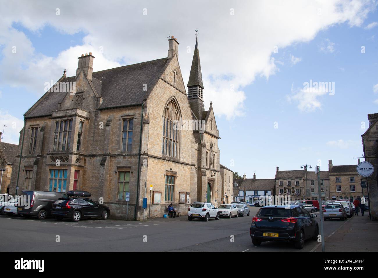
[[176, 102], [172, 99], [164, 109], [162, 153], [178, 157], [180, 138], [180, 115]]

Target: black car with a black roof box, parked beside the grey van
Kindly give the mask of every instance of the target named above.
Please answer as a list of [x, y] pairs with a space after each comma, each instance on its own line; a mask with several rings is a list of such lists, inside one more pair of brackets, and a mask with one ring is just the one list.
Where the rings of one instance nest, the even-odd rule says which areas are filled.
[[51, 214], [57, 220], [70, 218], [74, 222], [87, 217], [106, 220], [110, 215], [109, 208], [89, 199], [90, 196], [91, 194], [87, 191], [68, 191], [67, 197], [59, 198], [53, 203]]

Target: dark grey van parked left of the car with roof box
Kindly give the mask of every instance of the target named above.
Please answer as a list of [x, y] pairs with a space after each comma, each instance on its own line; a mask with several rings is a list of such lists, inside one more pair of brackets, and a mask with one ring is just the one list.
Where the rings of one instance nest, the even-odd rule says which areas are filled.
[[22, 191], [23, 196], [28, 197], [30, 203], [21, 203], [17, 206], [17, 214], [23, 217], [37, 216], [45, 219], [51, 215], [52, 205], [59, 198], [67, 197], [64, 192], [50, 191]]

